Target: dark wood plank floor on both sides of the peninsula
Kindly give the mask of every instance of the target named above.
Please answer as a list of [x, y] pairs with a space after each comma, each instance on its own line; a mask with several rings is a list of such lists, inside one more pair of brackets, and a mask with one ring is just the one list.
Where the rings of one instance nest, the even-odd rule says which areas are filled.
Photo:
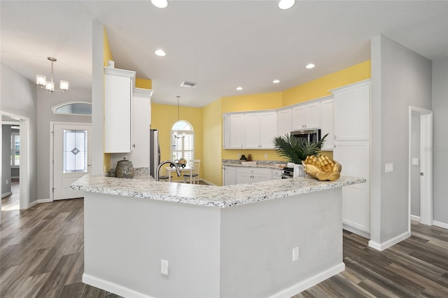
[[[81, 282], [83, 229], [83, 199], [2, 210], [0, 297], [118, 297]], [[409, 239], [383, 252], [344, 232], [344, 262], [294, 297], [448, 297], [447, 229], [413, 223]]]

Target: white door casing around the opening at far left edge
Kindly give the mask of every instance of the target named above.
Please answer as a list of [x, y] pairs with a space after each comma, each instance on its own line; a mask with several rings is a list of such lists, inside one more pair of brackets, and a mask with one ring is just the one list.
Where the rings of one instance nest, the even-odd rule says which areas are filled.
[[[19, 173], [19, 209], [29, 208], [29, 183], [31, 181], [29, 172], [29, 118], [0, 111], [1, 115], [19, 120], [20, 126], [20, 173]], [[1, 201], [0, 201], [1, 209]]]

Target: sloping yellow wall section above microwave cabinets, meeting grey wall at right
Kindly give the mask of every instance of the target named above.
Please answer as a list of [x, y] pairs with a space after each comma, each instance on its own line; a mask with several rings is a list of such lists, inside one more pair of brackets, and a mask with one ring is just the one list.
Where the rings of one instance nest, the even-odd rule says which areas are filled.
[[283, 91], [282, 106], [331, 95], [329, 90], [370, 78], [370, 60]]

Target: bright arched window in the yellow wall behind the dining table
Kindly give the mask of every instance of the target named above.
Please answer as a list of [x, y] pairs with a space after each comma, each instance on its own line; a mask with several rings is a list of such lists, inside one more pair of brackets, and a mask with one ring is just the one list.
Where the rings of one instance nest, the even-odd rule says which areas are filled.
[[172, 160], [195, 159], [195, 131], [193, 126], [185, 120], [174, 123], [171, 130], [171, 156]]

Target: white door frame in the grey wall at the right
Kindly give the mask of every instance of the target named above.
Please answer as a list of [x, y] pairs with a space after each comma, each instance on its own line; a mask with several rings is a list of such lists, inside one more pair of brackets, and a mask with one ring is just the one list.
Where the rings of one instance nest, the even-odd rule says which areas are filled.
[[420, 222], [433, 225], [433, 111], [409, 106], [408, 199], [411, 231], [411, 144], [412, 115], [420, 115]]

